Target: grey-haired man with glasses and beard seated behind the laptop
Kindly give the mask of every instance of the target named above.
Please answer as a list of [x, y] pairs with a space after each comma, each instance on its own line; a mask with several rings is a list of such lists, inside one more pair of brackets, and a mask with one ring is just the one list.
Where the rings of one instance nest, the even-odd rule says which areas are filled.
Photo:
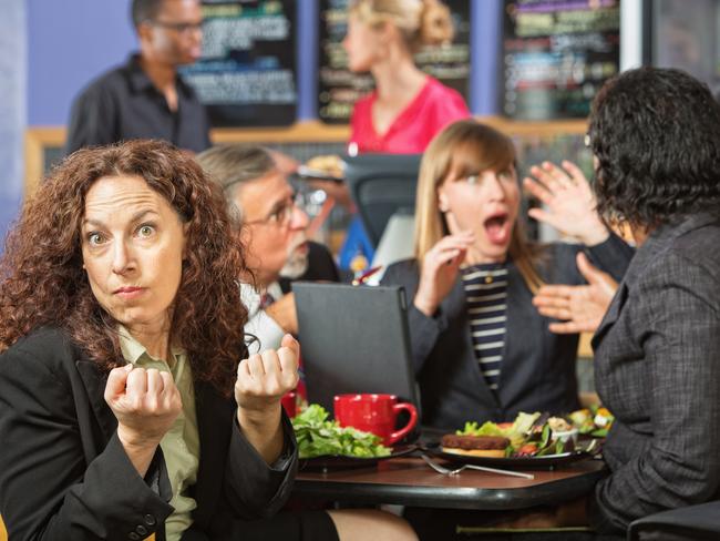
[[238, 277], [249, 310], [245, 328], [259, 341], [250, 350], [275, 348], [285, 333], [298, 331], [295, 297], [284, 292], [281, 276], [338, 282], [335, 262], [327, 248], [308, 242], [308, 216], [296, 205], [292, 186], [269, 151], [220, 145], [200, 153], [197, 161], [223, 187], [246, 247], [249, 272]]

